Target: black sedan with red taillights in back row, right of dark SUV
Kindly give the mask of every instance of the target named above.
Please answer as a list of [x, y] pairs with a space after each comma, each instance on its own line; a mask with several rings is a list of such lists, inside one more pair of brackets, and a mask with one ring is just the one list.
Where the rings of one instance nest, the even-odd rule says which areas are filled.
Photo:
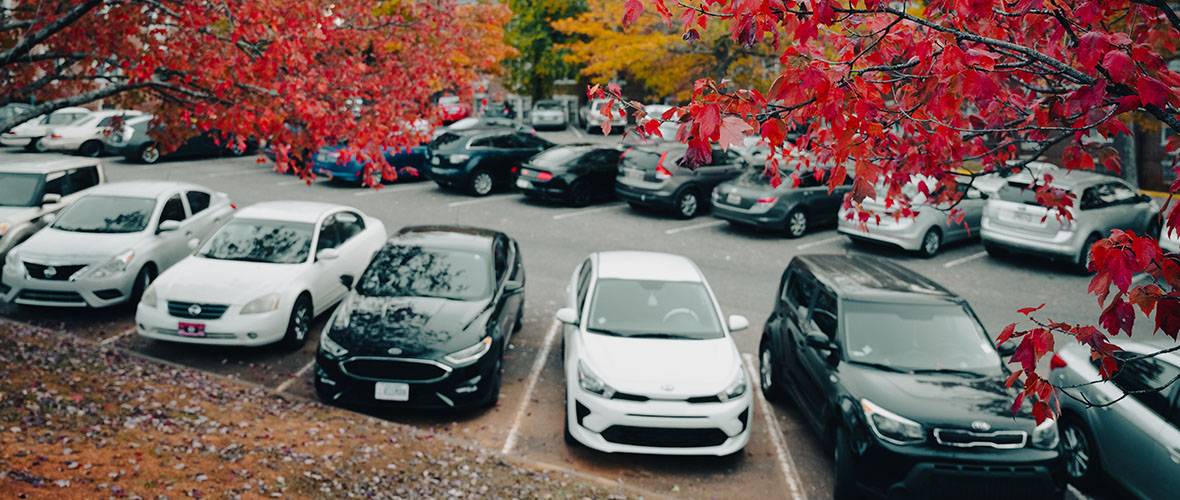
[[516, 186], [525, 196], [573, 206], [615, 197], [621, 151], [592, 144], [553, 146], [520, 165]]

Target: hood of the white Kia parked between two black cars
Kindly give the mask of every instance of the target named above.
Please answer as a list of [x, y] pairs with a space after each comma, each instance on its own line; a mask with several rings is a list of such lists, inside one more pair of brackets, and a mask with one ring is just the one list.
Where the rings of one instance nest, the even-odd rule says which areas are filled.
[[582, 337], [584, 357], [604, 382], [623, 393], [691, 397], [722, 392], [741, 358], [729, 338]]

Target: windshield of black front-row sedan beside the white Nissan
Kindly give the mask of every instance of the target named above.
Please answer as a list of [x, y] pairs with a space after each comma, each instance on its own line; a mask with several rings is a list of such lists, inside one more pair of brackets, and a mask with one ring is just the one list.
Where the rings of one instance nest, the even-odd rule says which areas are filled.
[[474, 301], [491, 295], [491, 263], [474, 251], [391, 245], [373, 256], [356, 291], [367, 297]]

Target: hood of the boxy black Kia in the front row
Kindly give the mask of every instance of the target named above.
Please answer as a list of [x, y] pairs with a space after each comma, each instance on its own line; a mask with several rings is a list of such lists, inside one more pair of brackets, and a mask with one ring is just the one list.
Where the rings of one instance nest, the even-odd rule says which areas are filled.
[[854, 399], [866, 399], [926, 427], [971, 428], [975, 421], [992, 429], [1031, 432], [1031, 402], [1012, 419], [1018, 388], [1004, 387], [1005, 376], [966, 377], [943, 374], [890, 373], [840, 363], [838, 380]]

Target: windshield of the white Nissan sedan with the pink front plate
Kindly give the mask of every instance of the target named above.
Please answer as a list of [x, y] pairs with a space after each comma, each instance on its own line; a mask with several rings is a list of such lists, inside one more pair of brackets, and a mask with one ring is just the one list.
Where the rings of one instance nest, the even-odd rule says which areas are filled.
[[307, 262], [315, 225], [280, 221], [234, 219], [201, 249], [204, 258], [271, 264]]

